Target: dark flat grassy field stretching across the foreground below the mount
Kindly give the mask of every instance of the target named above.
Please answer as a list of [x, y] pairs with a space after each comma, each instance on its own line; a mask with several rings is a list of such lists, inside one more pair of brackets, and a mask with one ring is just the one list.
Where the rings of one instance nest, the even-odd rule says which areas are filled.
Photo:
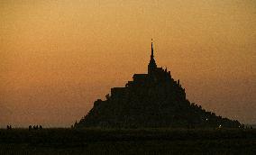
[[256, 154], [256, 130], [0, 130], [0, 154]]

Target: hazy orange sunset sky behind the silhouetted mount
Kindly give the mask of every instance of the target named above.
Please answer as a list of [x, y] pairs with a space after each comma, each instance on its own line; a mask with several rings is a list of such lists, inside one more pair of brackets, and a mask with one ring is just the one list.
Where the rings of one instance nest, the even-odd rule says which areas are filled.
[[256, 0], [0, 0], [0, 127], [70, 126], [158, 66], [206, 110], [256, 123]]

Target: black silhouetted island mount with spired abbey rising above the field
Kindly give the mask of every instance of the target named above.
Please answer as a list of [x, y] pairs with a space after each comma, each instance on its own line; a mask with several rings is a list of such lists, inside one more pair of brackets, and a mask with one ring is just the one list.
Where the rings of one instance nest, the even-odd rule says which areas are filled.
[[167, 68], [158, 68], [151, 42], [147, 74], [134, 74], [125, 87], [111, 88], [111, 95], [95, 101], [93, 108], [75, 127], [103, 128], [239, 128], [241, 123], [190, 103], [185, 88], [171, 77]]

